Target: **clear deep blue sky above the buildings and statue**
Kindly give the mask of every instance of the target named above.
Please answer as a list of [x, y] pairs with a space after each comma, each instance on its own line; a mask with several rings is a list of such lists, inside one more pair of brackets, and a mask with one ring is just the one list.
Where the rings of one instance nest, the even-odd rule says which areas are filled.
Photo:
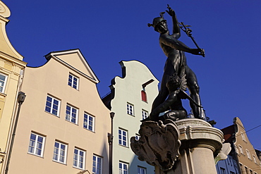
[[[216, 128], [241, 118], [245, 130], [261, 124], [261, 1], [257, 0], [3, 0], [11, 9], [7, 34], [28, 66], [42, 66], [51, 51], [80, 49], [100, 80], [99, 94], [109, 92], [121, 75], [119, 61], [138, 60], [161, 80], [166, 56], [152, 23], [169, 4], [206, 57], [186, 54], [198, 76], [202, 105]], [[171, 29], [171, 18], [169, 20]], [[180, 40], [195, 45], [185, 34]], [[261, 149], [261, 127], [248, 132]]]

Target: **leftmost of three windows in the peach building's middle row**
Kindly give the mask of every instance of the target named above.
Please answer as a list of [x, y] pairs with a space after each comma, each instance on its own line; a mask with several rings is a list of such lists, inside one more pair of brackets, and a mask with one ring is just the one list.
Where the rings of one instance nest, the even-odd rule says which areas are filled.
[[48, 95], [45, 111], [54, 114], [54, 116], [59, 116], [60, 103], [61, 101], [59, 99], [56, 99]]

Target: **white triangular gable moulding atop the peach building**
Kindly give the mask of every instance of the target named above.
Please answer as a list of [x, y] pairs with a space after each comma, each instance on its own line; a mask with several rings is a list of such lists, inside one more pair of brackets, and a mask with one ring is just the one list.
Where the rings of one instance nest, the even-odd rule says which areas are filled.
[[[73, 66], [69, 65], [68, 63], [66, 63], [65, 61], [63, 61], [63, 60], [61, 60], [60, 58], [57, 57], [59, 55], [74, 54], [74, 53], [78, 54], [78, 56], [83, 61], [83, 64], [85, 65], [85, 67], [88, 70], [90, 70], [90, 74], [93, 76], [93, 78], [90, 77], [89, 75], [86, 75], [85, 73], [81, 72], [80, 70], [74, 68]], [[56, 61], [59, 61], [60, 63], [62, 63], [64, 66], [70, 68], [71, 70], [74, 70], [76, 73], [80, 73], [80, 75], [83, 75], [84, 77], [86, 77], [87, 79], [91, 80], [92, 82], [95, 82], [95, 84], [99, 83], [99, 79], [97, 78], [97, 76], [93, 72], [92, 68], [90, 68], [90, 66], [87, 63], [85, 57], [80, 52], [80, 49], [69, 49], [69, 50], [65, 50], [65, 51], [52, 51], [49, 54], [45, 55], [45, 58], [47, 58], [47, 61], [49, 61], [51, 58], [54, 58]]]

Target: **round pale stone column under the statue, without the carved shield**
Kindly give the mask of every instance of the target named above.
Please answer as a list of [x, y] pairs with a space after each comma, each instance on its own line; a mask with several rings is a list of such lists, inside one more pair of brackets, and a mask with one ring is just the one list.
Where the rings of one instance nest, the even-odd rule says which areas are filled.
[[178, 120], [175, 123], [180, 131], [180, 156], [176, 166], [164, 173], [217, 174], [214, 156], [219, 154], [222, 147], [221, 130], [212, 128], [204, 120], [195, 118]]

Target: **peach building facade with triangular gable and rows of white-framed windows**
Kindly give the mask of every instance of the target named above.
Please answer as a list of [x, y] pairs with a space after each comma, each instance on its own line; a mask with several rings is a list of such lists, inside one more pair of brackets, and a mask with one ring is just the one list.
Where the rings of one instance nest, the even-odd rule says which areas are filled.
[[80, 50], [47, 54], [25, 69], [9, 174], [108, 173], [110, 111]]

